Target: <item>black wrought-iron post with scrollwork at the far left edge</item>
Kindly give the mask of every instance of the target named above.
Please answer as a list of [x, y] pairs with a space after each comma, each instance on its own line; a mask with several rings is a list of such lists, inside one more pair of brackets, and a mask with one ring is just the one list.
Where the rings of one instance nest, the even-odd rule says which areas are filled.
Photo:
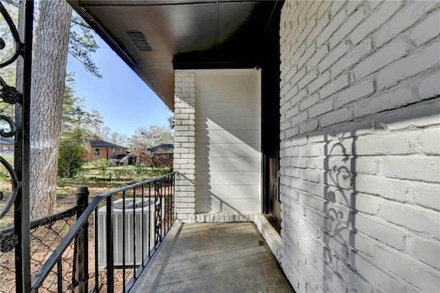
[[[0, 113], [2, 138], [14, 138], [14, 164], [10, 164], [0, 154], [0, 164], [10, 177], [10, 192], [0, 191], [0, 225], [5, 226], [5, 216], [13, 212], [13, 231], [0, 232], [0, 251], [14, 252], [16, 292], [30, 291], [30, 210], [29, 210], [29, 162], [30, 162], [30, 88], [32, 64], [32, 29], [34, 1], [20, 1], [19, 25], [16, 26], [10, 14], [0, 3], [1, 22], [8, 25], [12, 38], [0, 37], [0, 50], [12, 47], [12, 53], [0, 68], [17, 64], [17, 88], [8, 85], [0, 72], [0, 98], [14, 105], [14, 115]], [[23, 41], [22, 41], [23, 40]], [[8, 43], [10, 42], [10, 43]], [[2, 261], [3, 263], [3, 261]]]

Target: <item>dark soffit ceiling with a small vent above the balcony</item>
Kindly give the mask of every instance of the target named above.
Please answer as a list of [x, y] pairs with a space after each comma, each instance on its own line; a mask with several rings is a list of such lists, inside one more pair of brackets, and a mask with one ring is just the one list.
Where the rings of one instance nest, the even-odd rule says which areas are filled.
[[174, 69], [259, 66], [283, 1], [68, 2], [173, 109]]

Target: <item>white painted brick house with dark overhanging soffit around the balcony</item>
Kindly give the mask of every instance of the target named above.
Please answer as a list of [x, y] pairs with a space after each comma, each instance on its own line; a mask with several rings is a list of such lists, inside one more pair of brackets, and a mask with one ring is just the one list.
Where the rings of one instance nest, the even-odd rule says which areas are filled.
[[439, 290], [439, 1], [69, 3], [173, 109], [179, 221], [254, 221], [297, 292]]

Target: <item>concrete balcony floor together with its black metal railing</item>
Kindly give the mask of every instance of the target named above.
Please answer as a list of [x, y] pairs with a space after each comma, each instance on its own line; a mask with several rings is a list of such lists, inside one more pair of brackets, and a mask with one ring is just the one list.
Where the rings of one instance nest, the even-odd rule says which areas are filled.
[[[294, 292], [258, 219], [179, 223], [174, 195], [175, 173], [89, 204], [80, 186], [76, 206], [30, 223], [30, 291]], [[0, 230], [3, 260], [13, 257], [13, 230]], [[0, 292], [20, 291], [15, 271], [13, 261], [0, 263]]]

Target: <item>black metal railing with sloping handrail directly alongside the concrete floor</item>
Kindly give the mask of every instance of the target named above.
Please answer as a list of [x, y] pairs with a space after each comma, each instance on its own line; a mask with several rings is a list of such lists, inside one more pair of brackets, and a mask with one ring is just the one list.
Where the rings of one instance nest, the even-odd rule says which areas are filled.
[[[37, 290], [50, 272], [57, 270], [55, 266], [63, 259], [63, 252], [75, 242], [78, 247], [82, 246], [82, 250], [76, 250], [78, 265], [72, 272], [75, 290], [129, 292], [175, 221], [174, 178], [175, 173], [169, 173], [95, 197], [32, 278], [32, 290]], [[81, 193], [88, 193], [87, 188]], [[85, 257], [91, 255], [84, 244], [89, 243], [88, 233], [81, 231], [88, 230], [93, 213], [93, 261], [86, 261]], [[85, 268], [85, 263], [89, 268]], [[122, 280], [118, 284], [115, 284], [116, 273], [119, 274], [117, 279]], [[64, 286], [59, 287], [61, 283], [58, 280], [57, 292], [65, 291]]]

